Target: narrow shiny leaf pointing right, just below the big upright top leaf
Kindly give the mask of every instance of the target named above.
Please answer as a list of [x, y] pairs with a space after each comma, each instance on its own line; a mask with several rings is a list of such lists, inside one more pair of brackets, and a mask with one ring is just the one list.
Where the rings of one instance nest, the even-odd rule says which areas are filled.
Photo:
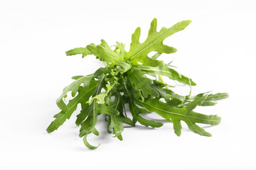
[[146, 72], [146, 74], [149, 74], [153, 77], [156, 77], [157, 75], [161, 75], [161, 76], [169, 77], [169, 79], [179, 81], [182, 84], [188, 84], [192, 86], [196, 85], [196, 83], [193, 82], [192, 79], [189, 79], [188, 77], [185, 77], [182, 74], [179, 74], [174, 69], [169, 68], [168, 65], [161, 65], [159, 67], [139, 66], [138, 68], [143, 72]]

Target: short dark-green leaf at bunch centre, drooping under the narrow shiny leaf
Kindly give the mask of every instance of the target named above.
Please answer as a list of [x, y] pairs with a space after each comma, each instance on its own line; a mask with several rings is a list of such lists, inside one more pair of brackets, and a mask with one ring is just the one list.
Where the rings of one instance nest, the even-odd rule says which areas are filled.
[[132, 67], [129, 69], [128, 78], [132, 85], [135, 86], [137, 91], [142, 90], [144, 98], [147, 98], [149, 95], [159, 97], [159, 94], [156, 90], [152, 89], [150, 84], [153, 84], [153, 81], [144, 76], [145, 72], [142, 72], [137, 67]]

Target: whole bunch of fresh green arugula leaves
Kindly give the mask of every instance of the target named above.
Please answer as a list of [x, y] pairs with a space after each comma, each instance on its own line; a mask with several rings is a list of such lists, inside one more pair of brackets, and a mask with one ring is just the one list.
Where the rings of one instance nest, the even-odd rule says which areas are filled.
[[[139, 42], [140, 28], [132, 35], [129, 52], [124, 50], [124, 44], [117, 42], [113, 50], [105, 40], [100, 45], [90, 44], [66, 52], [66, 55], [82, 57], [95, 55], [97, 59], [105, 62], [106, 67], [97, 69], [94, 74], [75, 76], [72, 84], [66, 86], [63, 94], [57, 99], [60, 113], [54, 115], [55, 120], [50, 123], [47, 132], [57, 130], [69, 119], [80, 103], [82, 110], [77, 115], [75, 124], [80, 126], [80, 137], [85, 145], [91, 149], [97, 147], [90, 145], [86, 137], [90, 133], [99, 135], [95, 125], [97, 116], [104, 115], [107, 122], [107, 132], [122, 140], [122, 123], [135, 126], [137, 122], [151, 128], [159, 128], [163, 124], [142, 117], [144, 113], [157, 113], [167, 122], [173, 123], [176, 135], [181, 135], [181, 120], [193, 132], [203, 136], [210, 136], [209, 132], [196, 125], [203, 123], [218, 125], [220, 117], [217, 115], [203, 115], [193, 111], [196, 106], [213, 106], [217, 100], [227, 98], [228, 94], [203, 93], [196, 96], [181, 96], [165, 84], [162, 76], [189, 86], [196, 85], [188, 77], [179, 74], [156, 60], [162, 53], [176, 52], [176, 48], [163, 44], [165, 38], [183, 30], [191, 21], [181, 21], [171, 28], [161, 28], [156, 31], [156, 18], [151, 22], [149, 34], [143, 43]], [[156, 52], [149, 57], [149, 52]], [[149, 79], [146, 75], [156, 77]], [[71, 91], [73, 99], [66, 104], [63, 99]], [[127, 117], [125, 105], [128, 104], [132, 120]]]

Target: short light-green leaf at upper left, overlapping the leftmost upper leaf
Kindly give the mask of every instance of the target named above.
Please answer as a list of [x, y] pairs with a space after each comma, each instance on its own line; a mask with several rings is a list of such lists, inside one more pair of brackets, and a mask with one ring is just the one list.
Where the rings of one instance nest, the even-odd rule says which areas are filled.
[[113, 50], [111, 50], [110, 46], [107, 45], [105, 40], [101, 40], [102, 45], [90, 44], [87, 45], [87, 49], [92, 52], [93, 55], [102, 58], [105, 62], [112, 62], [116, 64], [117, 62], [122, 62], [124, 57], [120, 54], [117, 54]]

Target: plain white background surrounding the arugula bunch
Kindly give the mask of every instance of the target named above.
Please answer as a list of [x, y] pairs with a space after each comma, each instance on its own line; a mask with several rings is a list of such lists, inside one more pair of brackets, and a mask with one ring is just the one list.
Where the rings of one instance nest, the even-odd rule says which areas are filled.
[[[256, 169], [255, 8], [246, 0], [1, 1], [0, 169]], [[120, 142], [99, 118], [100, 137], [88, 140], [101, 146], [90, 150], [78, 137], [75, 115], [49, 135], [46, 128], [59, 112], [55, 99], [70, 77], [100, 66], [95, 57], [65, 51], [102, 38], [129, 50], [135, 28], [142, 28], [143, 42], [153, 18], [158, 30], [193, 21], [164, 41], [178, 52], [160, 58], [175, 59], [178, 72], [196, 81], [193, 94], [230, 94], [217, 106], [198, 108], [222, 117], [220, 125], [203, 125], [213, 137], [186, 125], [177, 137], [171, 124], [138, 124], [125, 128]], [[176, 90], [188, 93], [187, 86]]]

